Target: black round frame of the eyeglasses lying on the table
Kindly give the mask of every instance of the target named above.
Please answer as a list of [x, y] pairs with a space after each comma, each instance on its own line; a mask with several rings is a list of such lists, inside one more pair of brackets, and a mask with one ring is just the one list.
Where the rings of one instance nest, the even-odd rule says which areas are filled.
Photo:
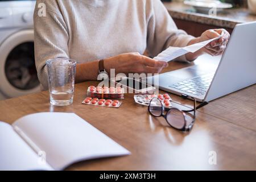
[[[161, 115], [159, 115], [159, 116], [155, 116], [154, 114], [152, 114], [151, 113], [151, 111], [150, 111], [150, 105], [151, 105], [151, 102], [154, 100], [154, 99], [157, 99], [157, 100], [159, 100], [160, 101], [160, 103], [161, 103], [161, 105], [162, 105], [162, 112], [161, 112]], [[171, 102], [174, 102], [174, 101], [171, 101]], [[177, 102], [174, 102], [175, 104], [179, 104], [179, 103], [177, 103]], [[179, 104], [180, 105], [180, 104]], [[200, 107], [202, 107], [202, 106], [200, 106]], [[152, 115], [152, 116], [154, 116], [154, 117], [156, 117], [156, 118], [160, 118], [160, 117], [164, 117], [164, 119], [166, 119], [166, 122], [168, 123], [168, 125], [170, 125], [172, 128], [174, 128], [174, 129], [176, 129], [176, 130], [180, 130], [180, 131], [184, 131], [184, 132], [187, 132], [187, 131], [191, 131], [192, 130], [192, 128], [193, 128], [193, 126], [194, 126], [194, 123], [195, 123], [195, 121], [196, 121], [196, 110], [197, 109], [199, 109], [200, 107], [196, 107], [196, 100], [194, 100], [194, 109], [192, 109], [192, 110], [180, 110], [179, 108], [177, 108], [177, 107], [171, 107], [171, 108], [166, 108], [166, 107], [164, 107], [164, 105], [163, 105], [163, 103], [162, 103], [162, 100], [160, 100], [159, 98], [152, 98], [152, 100], [150, 101], [150, 104], [148, 105], [148, 112]], [[184, 117], [184, 126], [183, 126], [183, 128], [182, 129], [177, 129], [176, 127], [174, 127], [174, 126], [172, 126], [168, 121], [167, 121], [167, 115], [168, 115], [168, 113], [172, 110], [172, 109], [176, 109], [176, 110], [178, 110], [178, 111], [180, 111], [182, 114], [183, 114], [183, 117]], [[167, 113], [166, 114], [164, 114], [164, 111], [167, 111]], [[190, 113], [190, 112], [193, 112], [193, 117], [192, 117], [192, 122], [190, 123], [190, 125], [188, 126], [188, 127], [186, 127], [187, 126], [187, 119], [185, 118], [185, 116], [187, 115], [186, 113]]]

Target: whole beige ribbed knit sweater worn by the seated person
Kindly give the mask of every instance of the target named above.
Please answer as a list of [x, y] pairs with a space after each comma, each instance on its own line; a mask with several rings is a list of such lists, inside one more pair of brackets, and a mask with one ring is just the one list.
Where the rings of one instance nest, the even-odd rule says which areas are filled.
[[193, 38], [177, 29], [160, 0], [38, 0], [34, 30], [36, 68], [44, 90], [48, 59], [86, 63], [146, 49], [154, 57], [168, 46], [187, 46]]

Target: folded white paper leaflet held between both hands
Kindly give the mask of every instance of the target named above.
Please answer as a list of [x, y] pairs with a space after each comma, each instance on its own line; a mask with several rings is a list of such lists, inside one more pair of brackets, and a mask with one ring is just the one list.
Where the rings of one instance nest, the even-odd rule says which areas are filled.
[[168, 47], [165, 51], [159, 53], [158, 56], [154, 57], [154, 59], [166, 61], [166, 62], [172, 61], [172, 60], [176, 59], [177, 57], [185, 55], [186, 53], [189, 53], [189, 52], [194, 53], [194, 52], [198, 51], [199, 49], [207, 46], [207, 44], [209, 44], [210, 42], [220, 39], [221, 36], [223, 36], [223, 35], [224, 35], [224, 32], [222, 32], [222, 34], [220, 36], [218, 36], [217, 38], [205, 40], [204, 42], [192, 44], [187, 47]]

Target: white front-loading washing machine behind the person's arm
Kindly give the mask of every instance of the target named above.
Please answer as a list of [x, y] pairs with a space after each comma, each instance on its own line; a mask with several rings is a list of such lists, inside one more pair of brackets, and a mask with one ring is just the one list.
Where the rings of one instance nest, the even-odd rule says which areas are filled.
[[40, 91], [35, 68], [35, 1], [0, 1], [0, 100]]

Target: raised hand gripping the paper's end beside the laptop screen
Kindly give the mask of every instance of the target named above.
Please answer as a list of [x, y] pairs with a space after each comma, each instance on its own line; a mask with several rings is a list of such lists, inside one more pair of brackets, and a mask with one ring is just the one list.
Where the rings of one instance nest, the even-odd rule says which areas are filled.
[[200, 42], [205, 40], [213, 39], [220, 36], [224, 32], [224, 35], [221, 36], [220, 39], [214, 40], [213, 42], [209, 43], [207, 46], [203, 48], [203, 52], [208, 53], [212, 56], [222, 55], [225, 51], [226, 44], [228, 44], [230, 34], [225, 29], [214, 29], [214, 30], [207, 30], [200, 36]]

